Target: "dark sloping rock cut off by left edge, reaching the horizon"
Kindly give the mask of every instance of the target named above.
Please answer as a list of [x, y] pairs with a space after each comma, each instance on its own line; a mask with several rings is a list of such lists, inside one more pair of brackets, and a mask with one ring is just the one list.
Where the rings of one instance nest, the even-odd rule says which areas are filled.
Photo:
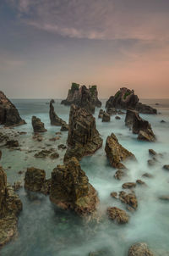
[[19, 116], [18, 109], [13, 103], [0, 91], [0, 125], [17, 126], [24, 125], [25, 120]]

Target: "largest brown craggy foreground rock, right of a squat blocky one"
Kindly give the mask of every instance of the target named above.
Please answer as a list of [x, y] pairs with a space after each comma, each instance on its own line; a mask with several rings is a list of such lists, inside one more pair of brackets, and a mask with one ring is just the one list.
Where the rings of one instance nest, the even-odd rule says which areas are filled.
[[75, 158], [52, 171], [50, 199], [61, 209], [72, 209], [79, 215], [94, 213], [99, 201], [95, 188]]

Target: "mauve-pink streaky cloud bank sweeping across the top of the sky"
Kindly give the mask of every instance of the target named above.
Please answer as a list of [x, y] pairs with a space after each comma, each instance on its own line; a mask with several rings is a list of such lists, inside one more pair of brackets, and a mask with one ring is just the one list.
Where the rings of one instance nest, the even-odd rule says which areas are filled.
[[158, 11], [157, 0], [143, 1], [142, 6], [133, 0], [7, 1], [13, 2], [26, 24], [62, 36], [169, 40], [168, 13], [163, 9]]

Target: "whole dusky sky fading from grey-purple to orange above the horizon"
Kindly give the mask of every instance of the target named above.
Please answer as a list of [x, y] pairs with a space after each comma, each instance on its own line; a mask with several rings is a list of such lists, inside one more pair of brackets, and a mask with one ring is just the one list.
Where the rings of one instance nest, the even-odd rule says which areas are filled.
[[0, 0], [0, 90], [65, 98], [72, 82], [169, 98], [169, 1]]

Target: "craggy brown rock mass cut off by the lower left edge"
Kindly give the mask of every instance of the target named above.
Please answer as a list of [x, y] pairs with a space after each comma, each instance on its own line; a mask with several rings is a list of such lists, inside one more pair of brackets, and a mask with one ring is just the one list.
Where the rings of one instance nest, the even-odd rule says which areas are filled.
[[0, 167], [0, 248], [17, 236], [17, 216], [21, 210], [22, 203], [7, 184], [7, 175]]

